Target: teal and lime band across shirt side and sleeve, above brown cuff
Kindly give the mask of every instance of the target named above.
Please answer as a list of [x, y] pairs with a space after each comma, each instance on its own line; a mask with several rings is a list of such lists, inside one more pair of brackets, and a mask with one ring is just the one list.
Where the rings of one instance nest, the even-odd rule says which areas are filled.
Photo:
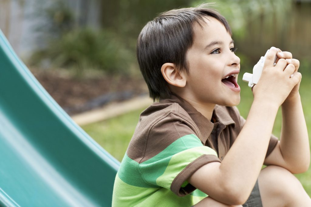
[[204, 154], [217, 156], [210, 147], [203, 146], [196, 135], [189, 134], [175, 140], [159, 154], [141, 164], [125, 154], [118, 176], [132, 186], [170, 189], [174, 178], [188, 164]]

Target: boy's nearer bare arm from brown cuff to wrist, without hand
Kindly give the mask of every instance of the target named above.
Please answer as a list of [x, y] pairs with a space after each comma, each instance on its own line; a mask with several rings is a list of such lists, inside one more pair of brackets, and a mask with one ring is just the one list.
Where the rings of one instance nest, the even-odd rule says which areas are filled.
[[262, 168], [277, 110], [278, 106], [268, 101], [254, 100], [243, 129], [222, 162], [204, 165], [189, 183], [220, 202], [244, 203]]

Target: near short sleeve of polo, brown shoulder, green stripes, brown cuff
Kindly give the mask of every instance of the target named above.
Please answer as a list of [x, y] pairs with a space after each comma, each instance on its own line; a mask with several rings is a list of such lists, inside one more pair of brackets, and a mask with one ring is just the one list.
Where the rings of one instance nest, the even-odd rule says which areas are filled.
[[[145, 159], [138, 167], [149, 184], [185, 196], [196, 188], [187, 179], [203, 165], [220, 162], [216, 151], [204, 146], [193, 124], [170, 113], [150, 130]], [[152, 150], [151, 150], [152, 149]]]

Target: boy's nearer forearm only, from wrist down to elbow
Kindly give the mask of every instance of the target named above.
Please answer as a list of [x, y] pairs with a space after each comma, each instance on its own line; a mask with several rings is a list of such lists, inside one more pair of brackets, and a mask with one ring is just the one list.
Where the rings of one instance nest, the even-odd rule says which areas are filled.
[[277, 110], [268, 101], [254, 100], [243, 129], [220, 165], [231, 187], [251, 192], [267, 153]]

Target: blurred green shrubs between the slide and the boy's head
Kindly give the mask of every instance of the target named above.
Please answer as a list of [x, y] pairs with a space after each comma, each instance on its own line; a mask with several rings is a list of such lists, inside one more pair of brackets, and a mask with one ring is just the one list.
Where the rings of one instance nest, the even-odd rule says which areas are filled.
[[[126, 39], [110, 28], [91, 28], [77, 25], [76, 18], [63, 1], [51, 5], [37, 4], [35, 18], [42, 18], [39, 41], [44, 47], [35, 51], [30, 65], [66, 68], [82, 75], [88, 69], [107, 73], [128, 73], [126, 63], [132, 61]], [[41, 43], [41, 44], [42, 44]]]

